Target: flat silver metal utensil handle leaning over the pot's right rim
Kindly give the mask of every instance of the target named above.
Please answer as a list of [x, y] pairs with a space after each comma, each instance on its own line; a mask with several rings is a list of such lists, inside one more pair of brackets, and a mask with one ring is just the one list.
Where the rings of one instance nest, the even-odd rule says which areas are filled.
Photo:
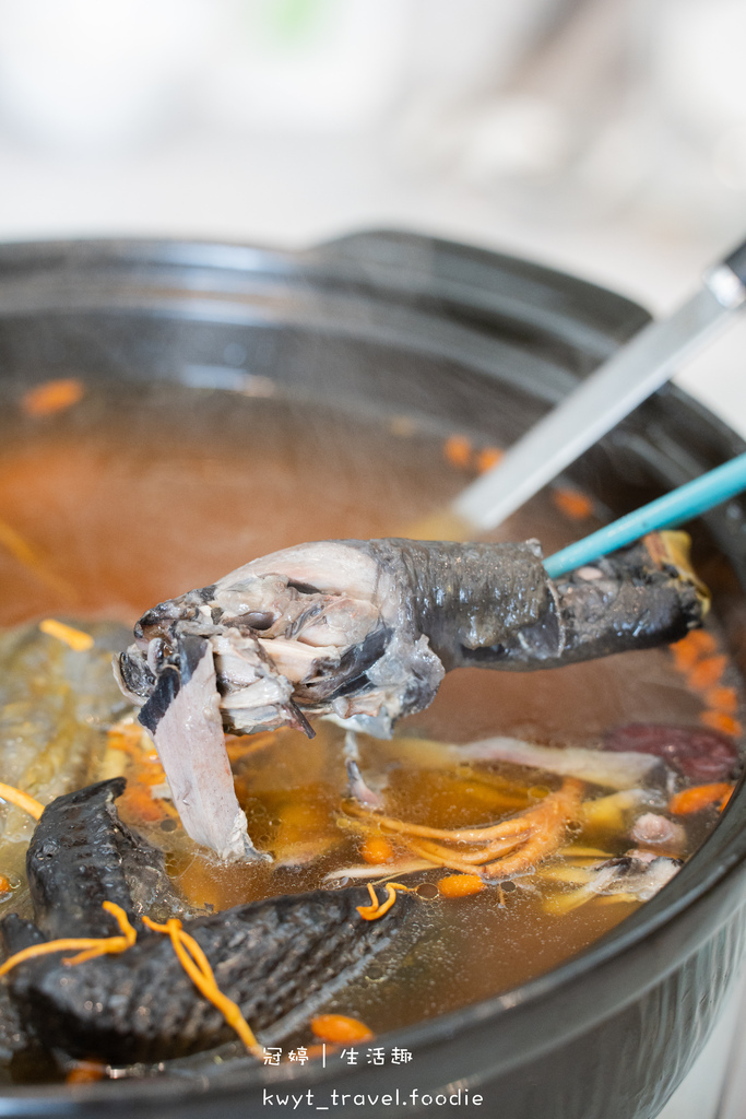
[[472, 533], [495, 528], [689, 360], [746, 302], [746, 242], [705, 273], [701, 289], [651, 322], [454, 501]]

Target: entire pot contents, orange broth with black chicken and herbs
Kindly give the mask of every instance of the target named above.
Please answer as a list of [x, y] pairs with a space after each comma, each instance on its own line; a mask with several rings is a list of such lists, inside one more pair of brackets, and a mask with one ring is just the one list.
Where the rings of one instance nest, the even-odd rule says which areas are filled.
[[1, 421], [7, 1079], [313, 1059], [509, 990], [717, 822], [743, 695], [680, 540], [551, 583], [605, 514], [567, 487], [406, 538], [499, 458], [474, 432], [43, 387]]

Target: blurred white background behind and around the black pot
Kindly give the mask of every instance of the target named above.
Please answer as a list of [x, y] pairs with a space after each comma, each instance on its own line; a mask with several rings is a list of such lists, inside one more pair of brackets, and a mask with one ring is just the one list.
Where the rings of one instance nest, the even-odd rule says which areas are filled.
[[[661, 313], [746, 236], [745, 47], [745, 0], [0, 0], [0, 239], [395, 226]], [[744, 355], [680, 379], [746, 434]]]

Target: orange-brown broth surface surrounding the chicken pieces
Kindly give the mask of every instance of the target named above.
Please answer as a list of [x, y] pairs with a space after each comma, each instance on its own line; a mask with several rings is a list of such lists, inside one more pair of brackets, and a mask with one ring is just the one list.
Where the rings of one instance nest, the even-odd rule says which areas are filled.
[[[317, 724], [313, 741], [291, 731], [229, 740], [249, 834], [275, 862], [217, 865], [182, 833], [157, 759], [108, 675], [110, 650], [122, 648], [126, 631], [92, 629], [96, 652], [76, 679], [60, 643], [35, 626], [55, 618], [83, 629], [131, 627], [154, 603], [254, 556], [302, 540], [406, 535], [499, 451], [472, 433], [408, 416], [351, 414], [271, 393], [91, 382], [62, 406], [30, 399], [4, 408], [0, 440], [2, 779], [46, 802], [87, 781], [128, 775], [121, 815], [167, 852], [195, 912], [334, 888], [378, 864], [396, 876], [413, 858], [406, 835], [378, 836], [386, 846], [371, 847], [376, 835], [344, 812], [346, 734], [328, 721]], [[597, 527], [604, 513], [585, 495], [548, 490], [492, 538], [538, 537], [550, 554]], [[35, 634], [22, 648], [21, 632]], [[393, 741], [358, 735], [360, 767], [388, 817], [476, 828], [540, 805], [560, 778], [514, 763], [459, 762], [450, 745], [508, 736], [593, 749], [629, 724], [700, 727], [729, 744], [740, 732], [740, 704], [715, 631], [673, 650], [551, 671], [459, 670]], [[83, 725], [87, 737], [73, 755], [66, 743], [79, 743]], [[46, 769], [34, 768], [29, 749], [45, 754]], [[702, 794], [681, 812], [671, 796], [706, 783], [690, 775], [677, 790], [651, 788], [634, 811], [591, 784], [586, 799], [601, 807], [568, 829], [561, 858], [463, 896], [443, 886], [453, 875], [447, 866], [405, 875], [422, 899], [407, 934], [415, 947], [378, 958], [328, 1009], [380, 1034], [506, 991], [576, 953], [640, 904], [623, 891], [582, 896], [592, 868], [632, 847], [686, 858], [717, 821], [725, 793]], [[676, 839], [645, 847], [631, 838], [635, 812], [645, 811], [670, 820]], [[2, 825], [9, 892], [0, 915], [30, 915], [22, 856], [32, 825], [18, 809], [6, 809]], [[388, 876], [384, 866], [371, 881]], [[298, 1034], [299, 1043], [311, 1040], [308, 1026]]]

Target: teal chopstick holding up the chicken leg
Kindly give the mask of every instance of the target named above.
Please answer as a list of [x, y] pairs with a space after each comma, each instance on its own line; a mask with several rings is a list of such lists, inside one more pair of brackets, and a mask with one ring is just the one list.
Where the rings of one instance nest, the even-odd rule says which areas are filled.
[[650, 505], [629, 513], [626, 517], [599, 528], [583, 540], [570, 544], [561, 552], [555, 552], [545, 560], [544, 566], [550, 579], [557, 579], [584, 563], [591, 563], [610, 552], [616, 552], [626, 544], [654, 533], [659, 528], [672, 528], [684, 520], [707, 513], [729, 497], [746, 489], [746, 454], [739, 454], [730, 462], [725, 462], [715, 470], [709, 470], [701, 478], [695, 478], [686, 486], [679, 486], [670, 493], [664, 493]]

